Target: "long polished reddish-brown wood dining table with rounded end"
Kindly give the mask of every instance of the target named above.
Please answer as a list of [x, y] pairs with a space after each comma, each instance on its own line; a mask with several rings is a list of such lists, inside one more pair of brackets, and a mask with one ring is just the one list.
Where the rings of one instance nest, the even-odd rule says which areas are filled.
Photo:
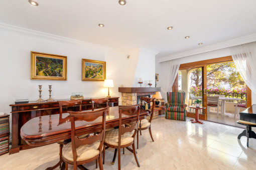
[[[148, 110], [140, 108], [140, 119], [145, 118], [148, 113]], [[77, 135], [100, 130], [101, 121], [101, 117], [92, 122], [75, 121]], [[106, 115], [106, 128], [118, 126], [118, 121], [118, 106], [109, 107], [108, 114]], [[122, 115], [123, 124], [133, 121], [136, 121], [136, 116]], [[30, 119], [21, 128], [21, 137], [32, 146], [42, 146], [71, 138], [69, 113], [44, 115]]]

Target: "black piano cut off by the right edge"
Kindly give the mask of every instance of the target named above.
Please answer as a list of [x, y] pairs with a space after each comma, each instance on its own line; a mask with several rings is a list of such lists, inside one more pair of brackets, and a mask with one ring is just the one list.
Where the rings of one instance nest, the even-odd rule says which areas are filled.
[[247, 147], [249, 147], [249, 138], [256, 139], [256, 133], [251, 130], [251, 127], [256, 127], [256, 104], [240, 112], [240, 120], [238, 120], [237, 123], [246, 126], [246, 129], [243, 130], [237, 138], [240, 139], [241, 136], [246, 136]]

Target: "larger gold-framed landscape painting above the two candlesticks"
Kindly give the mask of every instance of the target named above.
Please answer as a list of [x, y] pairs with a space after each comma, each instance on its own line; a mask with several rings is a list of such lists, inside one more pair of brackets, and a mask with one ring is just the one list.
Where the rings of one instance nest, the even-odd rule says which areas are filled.
[[30, 79], [67, 80], [67, 56], [31, 51]]

